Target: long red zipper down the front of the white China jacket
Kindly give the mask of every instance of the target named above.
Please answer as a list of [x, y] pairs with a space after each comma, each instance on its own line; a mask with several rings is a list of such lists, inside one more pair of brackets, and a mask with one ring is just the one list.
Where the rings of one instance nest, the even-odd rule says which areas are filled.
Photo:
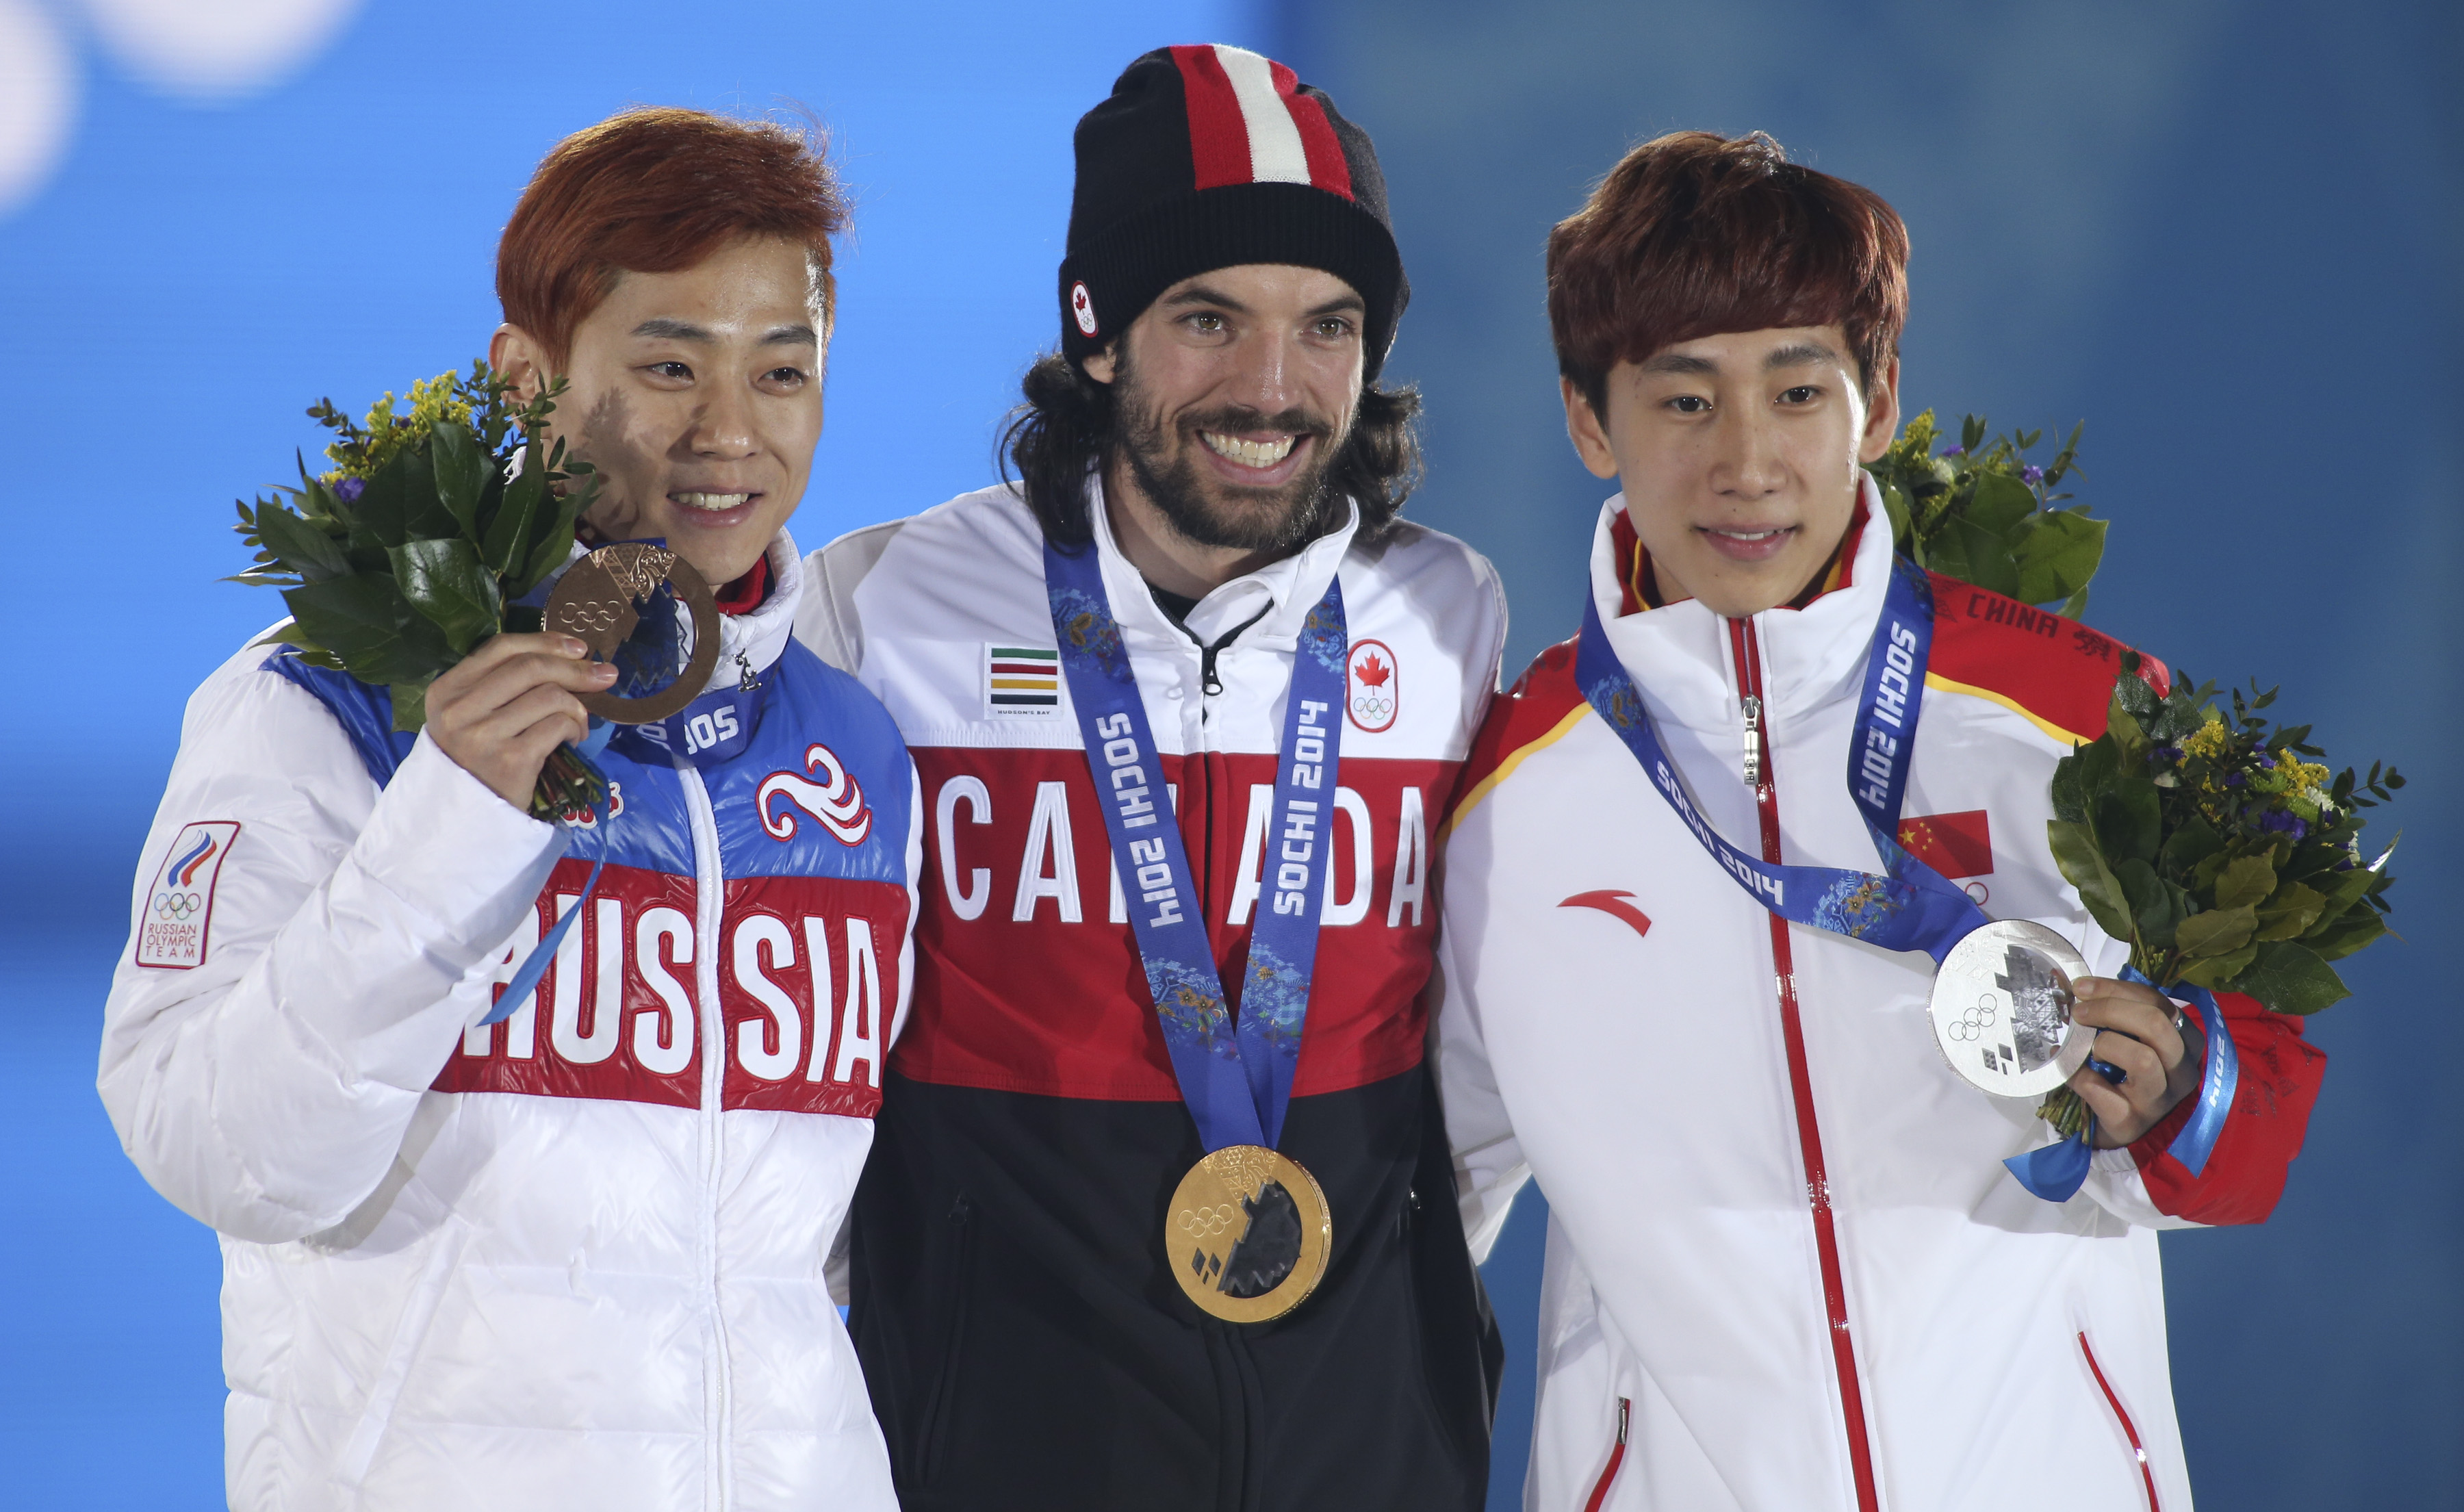
[[[1745, 781], [1754, 788], [1762, 859], [1777, 867], [1781, 864], [1779, 783], [1772, 771], [1772, 714], [1762, 690], [1762, 640], [1754, 635], [1754, 621], [1730, 621], [1727, 645], [1737, 662], [1737, 702], [1745, 709]], [[1779, 1032], [1789, 1049], [1789, 1093], [1796, 1101], [1796, 1148], [1806, 1162], [1806, 1209], [1814, 1214], [1814, 1249], [1823, 1271], [1823, 1315], [1831, 1322], [1831, 1369], [1841, 1384], [1848, 1470], [1855, 1478], [1858, 1512], [1880, 1512], [1873, 1443], [1865, 1436], [1865, 1396], [1855, 1374], [1855, 1342], [1848, 1337], [1848, 1285], [1841, 1276], [1841, 1244], [1831, 1216], [1831, 1172], [1823, 1165], [1823, 1135], [1814, 1120], [1814, 1076], [1806, 1069], [1806, 1029], [1796, 1010], [1796, 955], [1789, 948], [1789, 921], [1779, 914], [1767, 919], [1772, 921], [1772, 973], [1779, 987]]]

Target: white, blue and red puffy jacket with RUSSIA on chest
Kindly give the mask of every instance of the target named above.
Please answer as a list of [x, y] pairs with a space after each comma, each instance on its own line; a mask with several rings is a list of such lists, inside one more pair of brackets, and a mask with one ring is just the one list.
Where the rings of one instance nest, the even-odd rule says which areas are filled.
[[259, 645], [190, 699], [101, 1093], [222, 1234], [232, 1507], [894, 1507], [823, 1261], [909, 987], [914, 768], [769, 564], [722, 628], [747, 746], [604, 751], [621, 810], [572, 845], [350, 677]]

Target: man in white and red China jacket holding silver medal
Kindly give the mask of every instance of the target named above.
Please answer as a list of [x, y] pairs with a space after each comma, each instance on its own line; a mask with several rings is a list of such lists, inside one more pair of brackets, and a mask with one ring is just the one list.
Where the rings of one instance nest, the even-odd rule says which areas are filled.
[[[1567, 431], [1621, 493], [1582, 633], [1464, 771], [1437, 978], [1473, 1249], [1550, 1202], [1535, 1507], [2183, 1510], [2156, 1229], [2264, 1219], [2301, 1148], [2299, 1022], [2225, 995], [2210, 1047], [2053, 864], [2122, 648], [1892, 561], [1860, 463], [1905, 263], [1762, 135], [1646, 143], [1550, 236]], [[1971, 938], [2013, 1017], [2030, 938], [2097, 973], [2114, 1079], [2070, 1061], [2060, 1180], [2033, 1098], [1937, 1049], [1929, 955]], [[2245, 1096], [2195, 1096], [2227, 1049]]]

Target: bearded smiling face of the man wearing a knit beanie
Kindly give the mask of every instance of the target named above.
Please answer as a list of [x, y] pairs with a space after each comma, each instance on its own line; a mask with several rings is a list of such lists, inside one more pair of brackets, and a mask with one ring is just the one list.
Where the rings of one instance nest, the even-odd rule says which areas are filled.
[[1114, 384], [1109, 497], [1234, 559], [1303, 544], [1360, 404], [1360, 296], [1321, 268], [1247, 263], [1165, 288], [1087, 360]]

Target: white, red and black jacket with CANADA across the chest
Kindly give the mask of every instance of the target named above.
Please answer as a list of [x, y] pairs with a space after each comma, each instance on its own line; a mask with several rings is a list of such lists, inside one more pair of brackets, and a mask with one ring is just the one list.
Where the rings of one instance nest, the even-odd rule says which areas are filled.
[[1281, 1138], [1326, 1189], [1333, 1266], [1299, 1310], [1247, 1327], [1165, 1273], [1165, 1204], [1205, 1150], [1025, 502], [991, 488], [830, 544], [798, 635], [880, 694], [924, 778], [914, 1017], [853, 1219], [850, 1322], [902, 1505], [1478, 1507], [1493, 1332], [1446, 1209], [1422, 987], [1429, 847], [1496, 690], [1496, 574], [1432, 529], [1360, 542], [1345, 525], [1188, 616], [1210, 643], [1247, 625], [1210, 690], [1210, 657], [1156, 608], [1101, 500], [1092, 515], [1234, 992], [1294, 640], [1343, 574], [1340, 818]]

